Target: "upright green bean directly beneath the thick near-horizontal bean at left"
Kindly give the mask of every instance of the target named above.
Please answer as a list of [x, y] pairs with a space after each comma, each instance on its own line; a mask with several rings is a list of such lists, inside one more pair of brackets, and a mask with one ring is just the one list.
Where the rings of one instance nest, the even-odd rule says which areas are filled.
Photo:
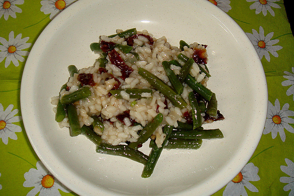
[[74, 104], [68, 104], [66, 106], [66, 110], [70, 124], [70, 136], [78, 136], [81, 134], [81, 126], [79, 123], [79, 117], [77, 116], [77, 108], [74, 106]]

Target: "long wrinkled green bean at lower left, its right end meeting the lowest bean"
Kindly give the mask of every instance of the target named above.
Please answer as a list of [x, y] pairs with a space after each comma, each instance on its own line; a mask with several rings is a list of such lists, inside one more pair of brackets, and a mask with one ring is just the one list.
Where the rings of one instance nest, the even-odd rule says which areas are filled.
[[100, 145], [96, 147], [96, 152], [102, 153], [102, 154], [126, 157], [131, 160], [137, 161], [138, 163], [141, 163], [143, 165], [147, 163], [147, 160], [149, 158], [148, 155], [145, 155], [139, 150], [135, 150], [128, 147], [127, 145], [121, 145], [121, 144], [113, 146], [106, 143], [100, 143]]

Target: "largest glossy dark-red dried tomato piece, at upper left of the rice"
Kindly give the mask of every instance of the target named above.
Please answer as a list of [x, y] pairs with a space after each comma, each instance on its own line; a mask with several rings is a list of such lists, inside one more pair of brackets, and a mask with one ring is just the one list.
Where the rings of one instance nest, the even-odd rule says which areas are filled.
[[119, 55], [117, 51], [110, 51], [108, 53], [108, 56], [111, 64], [117, 66], [120, 69], [120, 72], [122, 73], [121, 78], [123, 80], [129, 77], [132, 71], [134, 71], [133, 68], [126, 65], [126, 63], [123, 61], [122, 57]]

